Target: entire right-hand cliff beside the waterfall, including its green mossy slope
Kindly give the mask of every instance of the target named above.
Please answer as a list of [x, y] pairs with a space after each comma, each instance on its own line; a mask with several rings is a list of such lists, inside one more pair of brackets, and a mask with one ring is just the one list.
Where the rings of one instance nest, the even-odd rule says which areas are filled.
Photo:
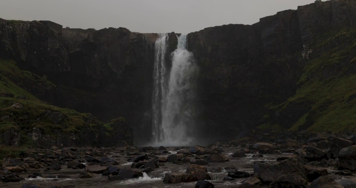
[[[201, 71], [202, 119], [211, 135], [216, 126], [220, 135], [255, 126], [261, 132], [354, 127], [353, 116], [345, 115], [354, 110], [355, 12], [355, 1], [315, 1], [253, 25], [189, 33], [188, 48]], [[346, 114], [339, 114], [340, 105], [349, 106]]]

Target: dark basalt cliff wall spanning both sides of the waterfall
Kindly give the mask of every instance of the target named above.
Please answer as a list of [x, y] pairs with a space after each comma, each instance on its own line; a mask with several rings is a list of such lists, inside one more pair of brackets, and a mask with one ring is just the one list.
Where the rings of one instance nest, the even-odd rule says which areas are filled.
[[[325, 74], [331, 76], [334, 71], [332, 76], [337, 78], [355, 74], [352, 67], [355, 69], [356, 62], [351, 61], [355, 56], [351, 49], [355, 46], [355, 21], [355, 1], [315, 1], [298, 10], [264, 17], [253, 25], [230, 24], [189, 33], [188, 49], [194, 53], [200, 73], [202, 134], [213, 141], [222, 136], [232, 139], [257, 126], [263, 131], [290, 129], [297, 122], [298, 129], [312, 126], [323, 114], [315, 116], [312, 124], [304, 124], [306, 113], [319, 99], [291, 99], [298, 91], [311, 95], [303, 88], [320, 81], [315, 70], [322, 63], [316, 61], [323, 61], [324, 52], [340, 57], [333, 61], [337, 68], [330, 66]], [[175, 36], [170, 33], [167, 58], [176, 48]], [[62, 28], [50, 21], [0, 19], [0, 58], [14, 59], [21, 69], [55, 85], [12, 78], [38, 99], [92, 113], [103, 121], [123, 116], [133, 127], [136, 143], [142, 143], [151, 136], [156, 38], [157, 34], [126, 28], [83, 30]], [[344, 47], [347, 54], [339, 54]], [[310, 67], [313, 62], [316, 69]], [[344, 69], [348, 74], [341, 74]], [[328, 128], [320, 129], [324, 130]]]

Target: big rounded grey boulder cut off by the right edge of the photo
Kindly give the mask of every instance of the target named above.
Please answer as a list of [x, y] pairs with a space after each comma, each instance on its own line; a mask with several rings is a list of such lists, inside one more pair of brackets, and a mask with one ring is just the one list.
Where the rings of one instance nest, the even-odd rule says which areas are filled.
[[356, 145], [342, 148], [338, 158], [340, 169], [356, 171]]

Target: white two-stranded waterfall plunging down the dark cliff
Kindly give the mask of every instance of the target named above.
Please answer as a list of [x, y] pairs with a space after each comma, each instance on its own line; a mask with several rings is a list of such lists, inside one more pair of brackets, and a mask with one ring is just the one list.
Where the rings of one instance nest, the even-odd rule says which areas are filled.
[[187, 36], [178, 37], [167, 69], [167, 34], [159, 34], [155, 43], [154, 87], [152, 99], [151, 146], [192, 146], [198, 143], [195, 95], [198, 67], [186, 48]]

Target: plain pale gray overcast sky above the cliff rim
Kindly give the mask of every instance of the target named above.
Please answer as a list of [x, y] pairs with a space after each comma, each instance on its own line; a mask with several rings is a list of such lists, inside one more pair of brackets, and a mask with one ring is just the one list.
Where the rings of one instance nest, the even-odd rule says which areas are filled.
[[[324, 0], [323, 0], [324, 1]], [[126, 27], [186, 34], [229, 23], [253, 24], [314, 0], [1, 0], [7, 20], [50, 20], [70, 28]]]

